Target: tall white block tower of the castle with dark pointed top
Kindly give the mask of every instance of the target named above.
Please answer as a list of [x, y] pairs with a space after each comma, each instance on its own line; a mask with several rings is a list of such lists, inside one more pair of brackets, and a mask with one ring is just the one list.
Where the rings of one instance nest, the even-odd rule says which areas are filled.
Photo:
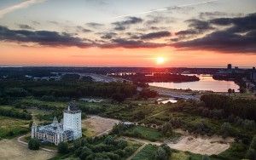
[[74, 139], [82, 137], [81, 111], [73, 102], [63, 113], [63, 129], [73, 130]]

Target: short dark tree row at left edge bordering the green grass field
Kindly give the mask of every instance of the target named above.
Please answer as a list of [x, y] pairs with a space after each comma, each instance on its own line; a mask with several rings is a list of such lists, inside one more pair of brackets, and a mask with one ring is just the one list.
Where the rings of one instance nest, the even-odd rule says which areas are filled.
[[18, 111], [15, 109], [0, 107], [0, 115], [6, 116], [6, 117], [15, 117], [15, 118], [20, 118], [20, 119], [26, 119], [26, 120], [32, 119], [31, 113], [27, 112], [26, 110]]

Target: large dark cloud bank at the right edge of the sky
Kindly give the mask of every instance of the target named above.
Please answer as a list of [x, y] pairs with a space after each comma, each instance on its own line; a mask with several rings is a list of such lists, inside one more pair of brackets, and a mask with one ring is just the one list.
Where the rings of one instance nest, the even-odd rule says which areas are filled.
[[245, 17], [218, 18], [209, 20], [215, 26], [226, 26], [205, 37], [175, 43], [183, 49], [207, 49], [228, 53], [256, 53], [256, 14]]

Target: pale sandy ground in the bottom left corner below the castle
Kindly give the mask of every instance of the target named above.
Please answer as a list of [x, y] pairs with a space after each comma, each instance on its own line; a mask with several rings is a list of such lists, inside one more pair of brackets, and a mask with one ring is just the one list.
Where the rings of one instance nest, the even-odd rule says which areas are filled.
[[11, 140], [0, 140], [0, 159], [1, 160], [27, 160], [37, 159], [44, 160], [55, 157], [54, 152], [49, 151], [32, 151], [26, 145], [20, 144], [16, 138]]

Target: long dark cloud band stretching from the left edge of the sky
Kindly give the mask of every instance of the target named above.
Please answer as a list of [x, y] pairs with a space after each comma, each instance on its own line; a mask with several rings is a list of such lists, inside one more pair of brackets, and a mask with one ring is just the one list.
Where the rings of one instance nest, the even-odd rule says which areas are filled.
[[[107, 33], [114, 36], [116, 33]], [[113, 37], [112, 37], [113, 38]], [[73, 37], [72, 34], [56, 31], [28, 31], [10, 30], [5, 26], [0, 26], [0, 41], [23, 43], [37, 43], [50, 47], [72, 47], [79, 48], [158, 48], [166, 46], [164, 43], [148, 43], [141, 40], [131, 40], [126, 38], [115, 38], [108, 41], [91, 40], [87, 38]]]

